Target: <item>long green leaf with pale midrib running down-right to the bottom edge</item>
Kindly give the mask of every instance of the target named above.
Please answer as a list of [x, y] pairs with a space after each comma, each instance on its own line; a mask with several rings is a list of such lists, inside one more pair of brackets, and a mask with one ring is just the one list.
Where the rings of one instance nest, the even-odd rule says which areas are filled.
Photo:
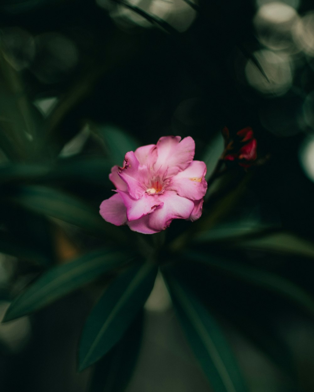
[[172, 273], [163, 274], [182, 328], [213, 390], [245, 392], [237, 361], [217, 321]]

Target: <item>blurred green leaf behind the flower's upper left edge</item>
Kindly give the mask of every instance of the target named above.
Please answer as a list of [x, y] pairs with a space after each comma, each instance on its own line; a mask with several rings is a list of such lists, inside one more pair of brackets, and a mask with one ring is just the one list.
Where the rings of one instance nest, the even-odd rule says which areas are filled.
[[92, 127], [105, 143], [112, 165], [121, 166], [128, 151], [135, 151], [139, 143], [129, 134], [110, 125]]

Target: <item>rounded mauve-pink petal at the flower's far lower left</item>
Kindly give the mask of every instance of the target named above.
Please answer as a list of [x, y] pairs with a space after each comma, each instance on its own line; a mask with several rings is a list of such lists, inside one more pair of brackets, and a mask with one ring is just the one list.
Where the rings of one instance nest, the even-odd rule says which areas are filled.
[[105, 221], [113, 223], [113, 225], [124, 225], [126, 219], [126, 206], [119, 193], [114, 194], [111, 198], [104, 200], [100, 204], [100, 215]]

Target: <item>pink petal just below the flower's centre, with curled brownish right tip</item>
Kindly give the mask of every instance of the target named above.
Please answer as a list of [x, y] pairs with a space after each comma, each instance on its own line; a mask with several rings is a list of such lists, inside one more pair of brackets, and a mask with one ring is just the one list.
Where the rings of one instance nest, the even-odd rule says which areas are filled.
[[131, 198], [128, 192], [120, 192], [120, 196], [126, 206], [126, 216], [128, 221], [133, 221], [141, 218], [144, 215], [150, 214], [158, 206], [162, 205], [157, 195], [148, 195], [144, 193], [139, 199]]

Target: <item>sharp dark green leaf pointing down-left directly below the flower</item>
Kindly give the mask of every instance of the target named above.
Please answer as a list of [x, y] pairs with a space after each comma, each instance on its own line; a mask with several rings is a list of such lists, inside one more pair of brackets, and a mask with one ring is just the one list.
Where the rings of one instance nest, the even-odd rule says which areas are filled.
[[79, 370], [104, 356], [121, 338], [152, 291], [157, 267], [145, 263], [118, 276], [89, 315], [79, 348]]

